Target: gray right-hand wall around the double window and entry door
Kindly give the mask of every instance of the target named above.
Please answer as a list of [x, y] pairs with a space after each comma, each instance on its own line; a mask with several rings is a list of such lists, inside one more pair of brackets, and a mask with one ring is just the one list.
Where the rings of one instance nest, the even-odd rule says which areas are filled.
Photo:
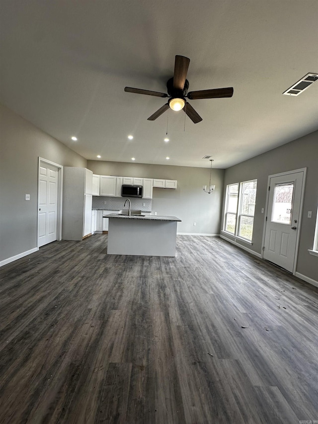
[[[261, 253], [264, 227], [261, 208], [265, 208], [268, 175], [300, 168], [307, 168], [307, 177], [297, 272], [318, 280], [318, 257], [308, 253], [308, 249], [313, 249], [318, 205], [318, 131], [228, 168], [225, 171], [224, 197], [228, 184], [257, 179], [253, 245], [247, 247]], [[312, 218], [307, 218], [308, 211], [313, 212]], [[238, 239], [237, 242], [240, 243]]]

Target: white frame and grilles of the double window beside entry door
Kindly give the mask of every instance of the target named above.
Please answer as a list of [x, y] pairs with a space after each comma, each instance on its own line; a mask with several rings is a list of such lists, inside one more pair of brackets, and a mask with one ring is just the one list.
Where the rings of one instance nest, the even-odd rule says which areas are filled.
[[[257, 190], [257, 179], [250, 179], [247, 181], [241, 181], [241, 182], [234, 182], [232, 184], [228, 184], [227, 185], [227, 190], [226, 190], [226, 202], [225, 202], [225, 207], [224, 207], [224, 217], [223, 217], [223, 231], [229, 235], [231, 235], [232, 237], [235, 238], [239, 238], [240, 240], [249, 243], [252, 245], [252, 240], [253, 240], [253, 231], [252, 231], [252, 236], [251, 239], [247, 239], [246, 237], [243, 237], [240, 235], [240, 230], [241, 230], [241, 221], [242, 221], [242, 217], [247, 217], [247, 218], [252, 218], [253, 219], [253, 227], [254, 227], [254, 216], [255, 216], [255, 207], [254, 207], [254, 214], [246, 214], [242, 212], [242, 200], [243, 200], [243, 185], [248, 183], [248, 182], [256, 182], [256, 190]], [[229, 206], [229, 197], [230, 197], [230, 187], [233, 185], [238, 185], [238, 202], [237, 202], [237, 211], [236, 213], [234, 212], [228, 212], [228, 206]], [[255, 194], [255, 203], [253, 203], [254, 205], [256, 204], [256, 194]], [[234, 233], [231, 233], [230, 231], [226, 230], [226, 226], [227, 226], [227, 221], [228, 221], [228, 215], [235, 215], [236, 217], [236, 222], [235, 222], [235, 228], [234, 228]]]

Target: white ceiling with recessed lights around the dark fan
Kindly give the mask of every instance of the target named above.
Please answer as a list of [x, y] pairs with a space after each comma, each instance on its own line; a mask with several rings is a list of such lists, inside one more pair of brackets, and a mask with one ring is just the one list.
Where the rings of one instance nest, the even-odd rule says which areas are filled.
[[[0, 101], [86, 159], [208, 168], [202, 157], [212, 155], [228, 168], [318, 129], [318, 82], [282, 95], [318, 73], [317, 0], [0, 7]], [[232, 98], [190, 100], [197, 124], [171, 110], [148, 121], [166, 99], [124, 92], [166, 92], [175, 55], [190, 58], [189, 91], [234, 87]]]

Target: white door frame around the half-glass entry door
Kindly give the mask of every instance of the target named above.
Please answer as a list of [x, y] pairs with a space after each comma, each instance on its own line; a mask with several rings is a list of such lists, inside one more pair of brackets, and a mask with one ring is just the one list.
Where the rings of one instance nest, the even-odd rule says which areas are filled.
[[[296, 265], [297, 265], [297, 259], [298, 259], [298, 247], [299, 247], [299, 238], [300, 238], [300, 226], [302, 224], [302, 218], [303, 218], [303, 203], [304, 203], [304, 194], [305, 194], [305, 183], [306, 183], [306, 172], [307, 168], [300, 168], [298, 170], [290, 170], [286, 172], [279, 172], [276, 174], [268, 175], [267, 179], [267, 187], [270, 185], [270, 179], [274, 178], [276, 176], [284, 176], [284, 175], [290, 175], [297, 172], [303, 172], [303, 182], [302, 182], [302, 190], [301, 190], [301, 196], [300, 196], [300, 204], [299, 204], [299, 219], [298, 219], [298, 229], [297, 236], [296, 236], [296, 247], [295, 247], [295, 257], [294, 257], [294, 265], [293, 265], [293, 275], [296, 274]], [[266, 203], [265, 203], [265, 216], [264, 216], [264, 226], [263, 226], [263, 237], [262, 237], [262, 258], [264, 256], [264, 246], [265, 246], [265, 231], [266, 231], [266, 218], [268, 216], [268, 203], [269, 203], [269, 190], [266, 189]]]

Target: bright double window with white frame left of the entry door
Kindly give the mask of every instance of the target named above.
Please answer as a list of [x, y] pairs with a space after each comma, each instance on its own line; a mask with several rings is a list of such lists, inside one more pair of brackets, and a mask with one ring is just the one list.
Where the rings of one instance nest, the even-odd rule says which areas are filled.
[[257, 180], [227, 186], [224, 231], [251, 241]]

